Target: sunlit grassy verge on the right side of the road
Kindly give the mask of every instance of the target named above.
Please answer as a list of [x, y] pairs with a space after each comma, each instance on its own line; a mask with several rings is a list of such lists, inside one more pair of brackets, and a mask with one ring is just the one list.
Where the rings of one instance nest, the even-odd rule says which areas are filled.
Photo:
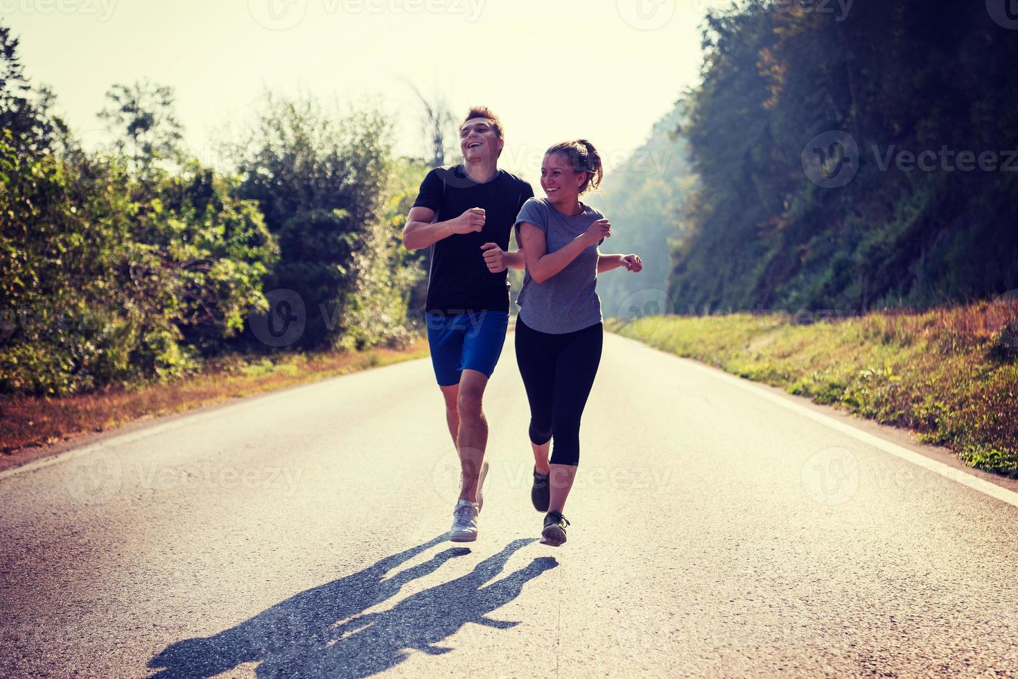
[[804, 323], [783, 315], [613, 320], [609, 330], [907, 428], [1018, 476], [1018, 301]]

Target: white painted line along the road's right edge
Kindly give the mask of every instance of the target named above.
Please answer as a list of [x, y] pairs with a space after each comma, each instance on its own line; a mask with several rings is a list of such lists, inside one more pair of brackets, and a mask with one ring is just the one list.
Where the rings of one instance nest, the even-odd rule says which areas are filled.
[[945, 478], [949, 478], [953, 482], [961, 484], [962, 486], [967, 486], [974, 491], [978, 491], [979, 493], [988, 495], [989, 497], [996, 500], [1000, 500], [1001, 502], [1006, 502], [1009, 505], [1018, 507], [1018, 493], [1015, 493], [1014, 491], [1011, 491], [1006, 488], [1002, 488], [1001, 486], [985, 480], [984, 478], [979, 478], [978, 476], [974, 476], [971, 473], [965, 471], [964, 469], [956, 469], [955, 467], [952, 467], [949, 464], [945, 464], [944, 462], [939, 462], [937, 460], [930, 459], [925, 455], [920, 455], [914, 450], [909, 450], [908, 448], [904, 448], [902, 446], [899, 446], [898, 444], [891, 443], [890, 441], [873, 436], [872, 434], [858, 430], [852, 427], [851, 425], [846, 425], [845, 422], [839, 421], [834, 417], [827, 415], [823, 412], [817, 412], [812, 408], [807, 408], [804, 405], [800, 405], [799, 403], [796, 403], [791, 399], [783, 398], [781, 396], [778, 396], [777, 394], [773, 394], [767, 389], [760, 387], [759, 385], [753, 384], [748, 380], [734, 376], [730, 373], [725, 373], [721, 369], [712, 367], [710, 365], [699, 363], [693, 360], [692, 358], [683, 358], [682, 356], [669, 354], [667, 351], [656, 349], [652, 346], [643, 344], [642, 342], [639, 342], [638, 340], [634, 340], [628, 337], [624, 337], [623, 339], [627, 339], [630, 342], [635, 342], [639, 346], [655, 351], [656, 353], [671, 355], [673, 358], [678, 358], [679, 360], [681, 360], [690, 367], [693, 367], [706, 375], [714, 376], [719, 380], [726, 380], [728, 381], [729, 384], [732, 384], [736, 387], [739, 387], [740, 389], [744, 389], [748, 392], [751, 392], [761, 398], [771, 401], [772, 403], [776, 403], [783, 408], [791, 410], [792, 412], [796, 412], [800, 415], [803, 415], [804, 417], [808, 417], [814, 421], [830, 427], [831, 429], [841, 432], [842, 434], [846, 434], [852, 437], [853, 439], [861, 441], [862, 443], [873, 446], [874, 448], [880, 448], [884, 452], [891, 453], [895, 457], [901, 458], [906, 462], [911, 462], [912, 464], [920, 466], [923, 469], [928, 469], [934, 473], [940, 474]]

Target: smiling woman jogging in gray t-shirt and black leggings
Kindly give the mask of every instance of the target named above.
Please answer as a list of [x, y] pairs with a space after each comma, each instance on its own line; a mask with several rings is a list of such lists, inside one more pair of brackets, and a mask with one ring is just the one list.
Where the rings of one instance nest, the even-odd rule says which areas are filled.
[[530, 402], [530, 499], [547, 512], [541, 534], [554, 547], [566, 542], [569, 521], [562, 510], [579, 462], [580, 416], [601, 362], [598, 274], [643, 268], [635, 254], [602, 254], [598, 248], [612, 235], [612, 225], [579, 196], [597, 188], [603, 175], [592, 144], [557, 144], [541, 168], [548, 197], [527, 200], [516, 217], [526, 265], [516, 302], [516, 360]]

